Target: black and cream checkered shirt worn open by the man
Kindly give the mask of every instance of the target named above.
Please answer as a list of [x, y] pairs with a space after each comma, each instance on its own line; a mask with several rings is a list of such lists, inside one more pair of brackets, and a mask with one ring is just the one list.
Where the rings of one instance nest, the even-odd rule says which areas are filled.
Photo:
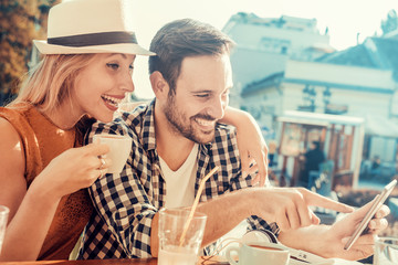
[[[80, 259], [150, 257], [150, 225], [154, 215], [165, 205], [166, 186], [156, 151], [155, 100], [132, 113], [123, 113], [112, 124], [96, 123], [88, 131], [128, 135], [132, 152], [121, 174], [106, 174], [91, 188], [96, 211], [88, 222], [80, 250]], [[234, 130], [217, 125], [213, 142], [199, 145], [195, 192], [200, 180], [216, 166], [220, 170], [207, 182], [200, 201], [250, 187], [251, 178], [241, 177]], [[276, 224], [250, 218], [250, 229], [277, 233]]]

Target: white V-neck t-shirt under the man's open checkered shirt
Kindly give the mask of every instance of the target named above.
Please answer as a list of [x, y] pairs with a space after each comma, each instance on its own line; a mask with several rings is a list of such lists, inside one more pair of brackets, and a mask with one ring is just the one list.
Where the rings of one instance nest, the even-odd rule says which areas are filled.
[[198, 148], [199, 145], [195, 144], [187, 160], [176, 171], [172, 171], [159, 156], [160, 169], [166, 180], [166, 208], [191, 206], [193, 204]]

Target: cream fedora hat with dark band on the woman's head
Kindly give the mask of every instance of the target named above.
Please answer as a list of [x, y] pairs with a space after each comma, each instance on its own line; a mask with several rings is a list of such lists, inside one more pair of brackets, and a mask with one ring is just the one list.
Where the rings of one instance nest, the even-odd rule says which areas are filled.
[[125, 53], [155, 55], [139, 46], [133, 0], [70, 0], [50, 9], [42, 54]]

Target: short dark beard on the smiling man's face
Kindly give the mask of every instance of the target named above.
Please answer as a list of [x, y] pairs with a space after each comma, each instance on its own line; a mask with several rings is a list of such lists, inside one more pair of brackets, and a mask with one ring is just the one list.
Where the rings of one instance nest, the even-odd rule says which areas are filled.
[[[214, 120], [214, 117], [206, 114], [197, 114], [190, 118], [187, 118], [184, 114], [179, 114], [174, 100], [174, 96], [168, 96], [167, 104], [164, 109], [165, 116], [176, 132], [180, 134], [185, 138], [195, 141], [197, 144], [208, 144], [214, 138], [214, 129], [210, 131], [195, 130], [192, 123], [196, 123], [196, 118], [206, 120]], [[206, 138], [203, 136], [206, 135]]]

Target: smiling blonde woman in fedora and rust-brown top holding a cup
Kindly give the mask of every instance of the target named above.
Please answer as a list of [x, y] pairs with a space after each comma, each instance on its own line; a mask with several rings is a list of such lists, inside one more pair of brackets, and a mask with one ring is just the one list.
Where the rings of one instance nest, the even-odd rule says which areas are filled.
[[[50, 10], [48, 41], [34, 41], [42, 62], [0, 108], [0, 204], [10, 209], [0, 261], [66, 259], [87, 223], [85, 188], [112, 161], [102, 158], [105, 145], [82, 147], [84, 134], [92, 119], [111, 121], [134, 91], [136, 54], [153, 54], [136, 42], [132, 4], [72, 0]], [[266, 146], [256, 125], [237, 109], [226, 121], [238, 127], [243, 168], [258, 161], [251, 170], [264, 182]]]

